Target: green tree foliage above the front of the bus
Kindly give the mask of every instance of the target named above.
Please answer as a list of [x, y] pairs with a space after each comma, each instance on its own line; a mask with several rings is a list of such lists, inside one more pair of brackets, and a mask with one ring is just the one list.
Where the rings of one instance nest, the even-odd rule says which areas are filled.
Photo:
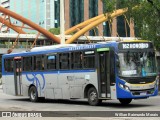
[[135, 22], [136, 37], [153, 41], [160, 49], [160, 0], [101, 0], [105, 12], [128, 7], [126, 16]]

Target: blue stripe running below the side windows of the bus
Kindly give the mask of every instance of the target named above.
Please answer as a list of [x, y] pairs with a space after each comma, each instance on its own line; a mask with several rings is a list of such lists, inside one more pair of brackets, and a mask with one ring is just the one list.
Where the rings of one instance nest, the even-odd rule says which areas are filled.
[[[95, 69], [86, 69], [86, 70], [59, 70], [59, 71], [31, 71], [31, 72], [22, 72], [22, 74], [61, 74], [61, 73], [82, 73], [82, 72], [95, 72]], [[2, 75], [14, 75], [11, 72], [5, 72]]]

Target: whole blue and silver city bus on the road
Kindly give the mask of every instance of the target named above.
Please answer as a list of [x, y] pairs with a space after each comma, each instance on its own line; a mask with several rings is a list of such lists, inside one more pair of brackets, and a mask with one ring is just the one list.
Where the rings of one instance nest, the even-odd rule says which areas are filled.
[[123, 40], [36, 47], [2, 56], [3, 91], [46, 99], [83, 99], [90, 105], [158, 95], [153, 44]]

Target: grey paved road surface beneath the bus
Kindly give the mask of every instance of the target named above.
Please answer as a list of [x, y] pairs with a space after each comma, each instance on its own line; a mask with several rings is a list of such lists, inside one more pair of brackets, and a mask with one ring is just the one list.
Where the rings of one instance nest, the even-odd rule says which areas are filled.
[[[160, 96], [152, 97], [150, 99], [133, 100], [132, 103], [128, 106], [122, 106], [118, 100], [108, 100], [103, 102], [100, 106], [90, 106], [88, 105], [86, 100], [48, 99], [45, 100], [44, 102], [32, 103], [29, 101], [28, 97], [6, 95], [0, 88], [0, 111], [160, 111]], [[65, 117], [62, 119], [67, 119], [67, 118]], [[71, 119], [75, 118], [73, 117]], [[83, 119], [76, 118], [76, 119], [85, 120], [92, 118], [83, 118]], [[105, 119], [105, 118], [96, 118], [96, 119]], [[114, 118], [114, 119], [121, 120], [123, 118]], [[145, 120], [147, 120], [147, 118]]]

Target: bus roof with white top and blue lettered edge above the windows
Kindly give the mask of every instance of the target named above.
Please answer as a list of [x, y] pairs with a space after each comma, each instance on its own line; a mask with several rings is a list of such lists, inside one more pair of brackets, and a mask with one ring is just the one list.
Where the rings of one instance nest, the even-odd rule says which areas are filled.
[[[123, 40], [119, 42], [149, 42], [147, 40]], [[29, 54], [41, 54], [46, 52], [65, 52], [65, 51], [73, 51], [73, 50], [83, 50], [83, 49], [92, 49], [92, 48], [99, 48], [102, 46], [114, 46], [116, 47], [117, 41], [104, 41], [104, 42], [97, 42], [97, 43], [89, 43], [89, 44], [57, 44], [57, 45], [50, 45], [50, 46], [42, 46], [42, 47], [35, 47], [32, 48], [30, 51], [23, 51], [19, 53], [11, 53], [5, 54], [3, 56], [21, 56], [21, 55], [29, 55]]]

